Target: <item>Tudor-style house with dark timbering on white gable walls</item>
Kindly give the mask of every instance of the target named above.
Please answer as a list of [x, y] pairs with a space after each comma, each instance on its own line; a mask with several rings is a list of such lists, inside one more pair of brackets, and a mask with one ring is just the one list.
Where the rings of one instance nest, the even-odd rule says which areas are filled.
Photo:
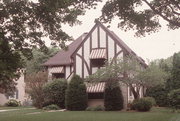
[[[95, 20], [95, 25], [89, 33], [82, 34], [68, 46], [67, 51], [59, 51], [45, 62], [44, 66], [48, 69], [49, 80], [53, 78], [69, 80], [73, 74], [86, 78], [103, 67], [105, 60], [123, 58], [129, 54], [136, 56], [142, 67], [147, 66], [144, 60], [138, 57], [114, 32]], [[87, 86], [89, 105], [103, 105], [104, 86], [105, 82]], [[126, 106], [133, 100], [133, 95], [127, 86], [124, 85], [121, 89]]]

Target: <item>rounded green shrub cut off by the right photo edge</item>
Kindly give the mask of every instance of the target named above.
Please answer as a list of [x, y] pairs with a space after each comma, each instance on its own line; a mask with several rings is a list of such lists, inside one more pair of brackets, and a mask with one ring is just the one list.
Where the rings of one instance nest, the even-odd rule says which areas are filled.
[[180, 89], [172, 90], [169, 94], [169, 105], [174, 109], [180, 109]]

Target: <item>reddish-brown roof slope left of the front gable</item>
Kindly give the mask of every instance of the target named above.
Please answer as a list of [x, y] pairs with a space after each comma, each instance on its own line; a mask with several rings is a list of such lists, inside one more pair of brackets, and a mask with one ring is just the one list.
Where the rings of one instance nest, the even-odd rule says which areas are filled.
[[79, 46], [79, 44], [83, 41], [83, 37], [87, 34], [82, 34], [79, 38], [74, 40], [69, 46], [68, 50], [60, 50], [55, 56], [51, 57], [48, 61], [46, 61], [44, 66], [59, 66], [59, 65], [70, 65], [72, 64], [71, 55]]

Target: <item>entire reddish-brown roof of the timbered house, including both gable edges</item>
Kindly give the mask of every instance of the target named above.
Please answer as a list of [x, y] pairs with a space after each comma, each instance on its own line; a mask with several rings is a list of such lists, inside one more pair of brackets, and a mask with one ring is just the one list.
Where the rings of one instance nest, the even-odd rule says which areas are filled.
[[147, 66], [147, 64], [145, 63], [145, 61], [141, 58], [138, 57], [136, 55], [136, 53], [134, 51], [132, 51], [114, 32], [110, 31], [109, 29], [107, 29], [101, 22], [99, 22], [98, 20], [95, 20], [95, 25], [94, 27], [91, 29], [91, 31], [87, 34], [84, 33], [82, 34], [79, 38], [77, 38], [76, 40], [74, 40], [69, 46], [68, 46], [68, 50], [61, 50], [59, 51], [55, 56], [53, 56], [52, 58], [50, 58], [47, 62], [45, 62], [43, 65], [44, 66], [58, 66], [58, 65], [70, 65], [72, 64], [72, 60], [71, 57], [74, 53], [76, 53], [79, 48], [82, 46], [82, 44], [87, 40], [88, 36], [90, 36], [90, 34], [93, 32], [93, 30], [95, 29], [96, 26], [100, 26], [105, 32], [107, 32], [107, 34], [114, 39], [117, 44], [128, 54], [134, 55], [135, 57], [137, 57], [137, 59], [140, 61], [141, 64], [143, 64], [145, 67]]

